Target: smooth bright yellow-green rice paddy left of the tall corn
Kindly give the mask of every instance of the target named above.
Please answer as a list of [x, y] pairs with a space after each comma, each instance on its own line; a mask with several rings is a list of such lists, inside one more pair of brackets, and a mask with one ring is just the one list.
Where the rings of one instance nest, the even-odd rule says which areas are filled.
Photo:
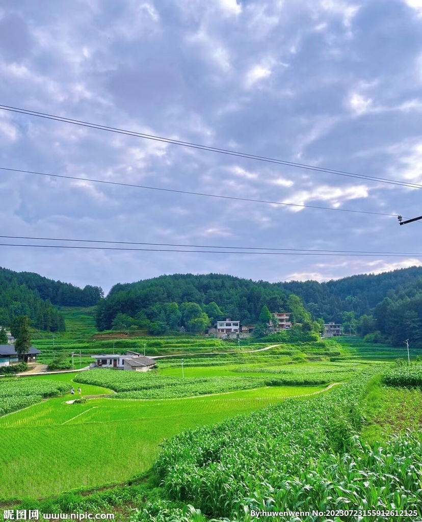
[[0, 418], [2, 444], [8, 447], [0, 467], [1, 496], [40, 497], [128, 480], [152, 466], [164, 438], [320, 389], [263, 388], [176, 400], [92, 399], [80, 405], [65, 404], [67, 397], [42, 402]]

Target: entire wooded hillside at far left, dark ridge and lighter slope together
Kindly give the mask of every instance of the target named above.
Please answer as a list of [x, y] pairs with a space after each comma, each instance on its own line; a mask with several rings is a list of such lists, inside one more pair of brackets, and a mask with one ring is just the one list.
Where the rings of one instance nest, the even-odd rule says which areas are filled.
[[9, 326], [19, 315], [27, 315], [31, 326], [40, 330], [63, 331], [59, 306], [91, 306], [103, 292], [99, 287], [81, 289], [53, 281], [32, 272], [15, 272], [0, 267], [0, 325]]

